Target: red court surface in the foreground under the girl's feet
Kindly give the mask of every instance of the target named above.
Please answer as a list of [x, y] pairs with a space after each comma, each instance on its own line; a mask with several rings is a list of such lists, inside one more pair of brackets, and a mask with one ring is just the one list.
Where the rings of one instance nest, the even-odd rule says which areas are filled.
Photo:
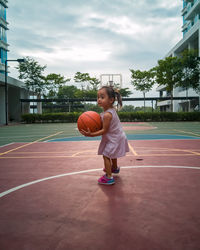
[[200, 249], [200, 140], [129, 144], [109, 187], [99, 141], [0, 148], [0, 249]]

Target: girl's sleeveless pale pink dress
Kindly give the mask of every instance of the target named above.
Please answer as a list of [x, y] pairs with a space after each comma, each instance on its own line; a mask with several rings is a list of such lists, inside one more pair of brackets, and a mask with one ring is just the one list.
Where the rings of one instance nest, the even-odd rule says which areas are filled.
[[116, 159], [125, 156], [126, 152], [129, 152], [128, 141], [116, 110], [111, 108], [101, 113], [102, 120], [106, 112], [112, 114], [112, 120], [108, 132], [102, 135], [98, 155], [104, 155], [108, 158]]

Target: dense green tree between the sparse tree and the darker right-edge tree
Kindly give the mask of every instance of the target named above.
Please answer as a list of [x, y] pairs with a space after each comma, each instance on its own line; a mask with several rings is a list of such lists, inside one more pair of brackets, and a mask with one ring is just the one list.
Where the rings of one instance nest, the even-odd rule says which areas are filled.
[[163, 85], [171, 96], [171, 111], [173, 111], [173, 89], [181, 80], [181, 64], [177, 57], [166, 57], [158, 61], [154, 67], [155, 80], [159, 86]]

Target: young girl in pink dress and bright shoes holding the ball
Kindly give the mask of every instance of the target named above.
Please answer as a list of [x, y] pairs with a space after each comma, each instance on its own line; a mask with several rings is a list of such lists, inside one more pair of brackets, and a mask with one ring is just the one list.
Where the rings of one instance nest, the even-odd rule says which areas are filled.
[[117, 100], [118, 105], [122, 106], [121, 96], [112, 87], [104, 86], [99, 89], [97, 94], [97, 103], [103, 108], [101, 113], [103, 127], [97, 132], [82, 130], [81, 133], [85, 136], [100, 136], [102, 140], [99, 145], [98, 154], [103, 155], [104, 172], [99, 184], [112, 185], [115, 183], [112, 173], [119, 173], [120, 168], [117, 166], [117, 158], [122, 157], [129, 151], [128, 141], [122, 129], [119, 117], [114, 108], [114, 102]]

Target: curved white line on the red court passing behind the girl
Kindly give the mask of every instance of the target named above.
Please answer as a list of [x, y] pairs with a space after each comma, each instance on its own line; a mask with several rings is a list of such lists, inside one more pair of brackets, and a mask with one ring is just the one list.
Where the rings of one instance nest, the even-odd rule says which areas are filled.
[[[121, 169], [136, 169], [136, 168], [180, 168], [180, 169], [198, 169], [200, 170], [200, 167], [187, 167], [187, 166], [124, 166], [121, 167]], [[70, 175], [76, 175], [76, 174], [84, 174], [84, 173], [90, 173], [90, 172], [96, 172], [96, 171], [101, 171], [102, 168], [97, 168], [97, 169], [88, 169], [88, 170], [83, 170], [83, 171], [77, 171], [77, 172], [71, 172], [71, 173], [66, 173], [66, 174], [59, 174], [59, 175], [55, 175], [55, 176], [50, 176], [50, 177], [46, 177], [43, 179], [38, 179], [35, 181], [31, 181], [25, 184], [22, 184], [20, 186], [11, 188], [7, 191], [4, 191], [2, 193], [0, 193], [0, 198], [3, 196], [6, 196], [12, 192], [15, 192], [19, 189], [25, 188], [27, 186], [42, 182], [42, 181], [47, 181], [47, 180], [51, 180], [51, 179], [55, 179], [55, 178], [60, 178], [60, 177], [64, 177], [64, 176], [70, 176]]]

